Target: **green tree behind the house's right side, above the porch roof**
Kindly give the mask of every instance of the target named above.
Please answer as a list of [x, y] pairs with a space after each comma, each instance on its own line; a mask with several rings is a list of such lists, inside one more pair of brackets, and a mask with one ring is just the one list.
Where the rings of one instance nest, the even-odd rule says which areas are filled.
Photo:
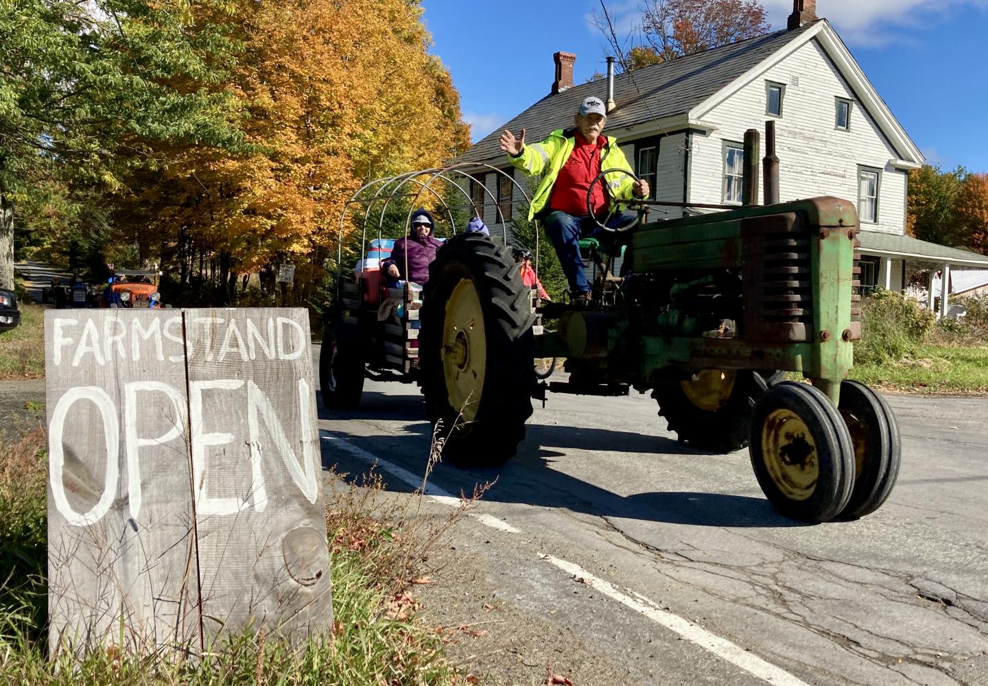
[[966, 174], [963, 167], [945, 172], [930, 164], [910, 170], [906, 197], [909, 235], [951, 247], [967, 242], [954, 218], [954, 204]]

